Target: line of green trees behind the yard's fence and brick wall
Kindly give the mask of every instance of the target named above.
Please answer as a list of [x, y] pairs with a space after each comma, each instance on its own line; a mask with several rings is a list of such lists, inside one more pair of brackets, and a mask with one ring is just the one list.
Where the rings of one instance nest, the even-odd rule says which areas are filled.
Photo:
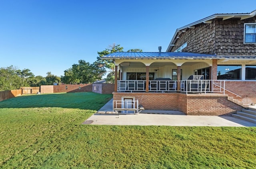
[[[54, 83], [64, 84], [80, 84], [93, 83], [94, 81], [102, 80], [106, 75], [107, 83], [114, 83], [114, 60], [102, 60], [101, 57], [114, 52], [123, 52], [123, 47], [113, 43], [104, 51], [98, 52], [97, 60], [90, 64], [85, 60], [79, 60], [78, 64], [73, 64], [72, 67], [64, 71], [64, 76], [58, 77], [52, 75], [51, 72], [46, 73], [46, 77], [34, 76], [30, 69], [20, 70], [13, 65], [0, 68], [0, 91], [15, 90], [22, 86], [41, 86], [53, 85]], [[128, 52], [142, 52], [141, 49], [130, 49]]]

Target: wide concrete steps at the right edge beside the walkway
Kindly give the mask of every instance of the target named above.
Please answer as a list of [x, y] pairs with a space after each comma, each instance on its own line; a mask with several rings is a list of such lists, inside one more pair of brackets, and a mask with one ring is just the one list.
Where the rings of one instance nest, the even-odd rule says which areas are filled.
[[232, 117], [256, 123], [256, 106], [248, 106], [248, 109], [246, 108], [236, 114], [232, 114]]

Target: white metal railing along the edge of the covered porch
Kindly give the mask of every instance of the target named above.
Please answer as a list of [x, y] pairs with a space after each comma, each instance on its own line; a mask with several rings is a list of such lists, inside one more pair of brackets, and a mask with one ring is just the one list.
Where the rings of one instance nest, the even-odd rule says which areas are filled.
[[[118, 81], [118, 92], [145, 92], [146, 81]], [[149, 92], [175, 92], [177, 81], [149, 81]], [[180, 92], [225, 94], [225, 80], [180, 81]]]

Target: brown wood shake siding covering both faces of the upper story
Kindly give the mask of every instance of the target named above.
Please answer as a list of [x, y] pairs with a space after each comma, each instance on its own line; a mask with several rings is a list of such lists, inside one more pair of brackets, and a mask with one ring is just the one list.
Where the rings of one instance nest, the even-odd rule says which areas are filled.
[[244, 44], [244, 23], [255, 23], [256, 16], [240, 20], [216, 18], [211, 24], [198, 24], [194, 29], [178, 32], [171, 52], [187, 42], [183, 52], [216, 55], [256, 55], [256, 44]]

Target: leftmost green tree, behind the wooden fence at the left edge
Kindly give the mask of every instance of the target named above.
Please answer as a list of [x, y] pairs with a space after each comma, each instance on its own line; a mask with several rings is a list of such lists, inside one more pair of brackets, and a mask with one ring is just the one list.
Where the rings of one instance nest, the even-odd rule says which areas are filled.
[[12, 65], [0, 68], [0, 90], [15, 90], [20, 88], [20, 77], [16, 73], [17, 68]]

